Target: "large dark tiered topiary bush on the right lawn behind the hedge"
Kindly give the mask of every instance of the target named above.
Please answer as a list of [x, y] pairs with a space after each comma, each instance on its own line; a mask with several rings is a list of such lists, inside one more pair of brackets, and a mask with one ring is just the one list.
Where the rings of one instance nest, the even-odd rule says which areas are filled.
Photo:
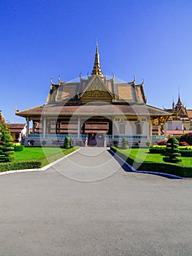
[[164, 153], [166, 157], [163, 158], [164, 162], [177, 163], [182, 161], [182, 159], [178, 158], [180, 157], [178, 146], [179, 142], [176, 138], [172, 137], [167, 140], [166, 151]]

